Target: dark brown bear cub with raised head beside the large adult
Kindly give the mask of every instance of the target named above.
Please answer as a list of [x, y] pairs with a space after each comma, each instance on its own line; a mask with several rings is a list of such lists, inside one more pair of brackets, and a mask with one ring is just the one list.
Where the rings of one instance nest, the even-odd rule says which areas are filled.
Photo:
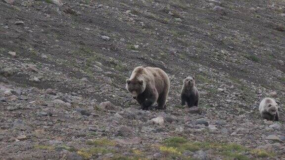
[[195, 80], [191, 77], [185, 77], [183, 81], [183, 87], [181, 90], [181, 105], [186, 107], [197, 106], [199, 103], [199, 92], [195, 87]]

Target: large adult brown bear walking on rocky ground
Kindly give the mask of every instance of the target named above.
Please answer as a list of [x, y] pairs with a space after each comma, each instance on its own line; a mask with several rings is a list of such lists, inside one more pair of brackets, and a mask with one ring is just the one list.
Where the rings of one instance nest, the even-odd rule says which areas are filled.
[[143, 110], [147, 110], [155, 102], [158, 104], [157, 109], [166, 108], [170, 82], [167, 74], [161, 69], [136, 67], [126, 82], [127, 90], [132, 93]]

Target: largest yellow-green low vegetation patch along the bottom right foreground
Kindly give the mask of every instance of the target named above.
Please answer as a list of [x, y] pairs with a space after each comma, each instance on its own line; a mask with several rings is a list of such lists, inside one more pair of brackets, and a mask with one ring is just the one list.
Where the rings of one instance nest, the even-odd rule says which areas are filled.
[[[245, 153], [257, 158], [271, 158], [274, 153], [249, 149], [235, 143], [219, 142], [192, 142], [183, 137], [170, 137], [163, 141], [163, 145], [158, 147], [166, 157], [183, 157], [185, 151], [214, 150], [216, 155], [222, 156], [225, 160], [249, 160]], [[190, 158], [190, 157], [187, 157]]]

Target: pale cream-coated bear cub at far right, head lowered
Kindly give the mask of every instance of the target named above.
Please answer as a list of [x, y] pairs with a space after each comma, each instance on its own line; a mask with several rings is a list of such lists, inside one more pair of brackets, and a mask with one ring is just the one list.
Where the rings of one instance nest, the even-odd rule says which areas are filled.
[[259, 104], [259, 113], [263, 119], [279, 121], [278, 104], [272, 98], [264, 98]]

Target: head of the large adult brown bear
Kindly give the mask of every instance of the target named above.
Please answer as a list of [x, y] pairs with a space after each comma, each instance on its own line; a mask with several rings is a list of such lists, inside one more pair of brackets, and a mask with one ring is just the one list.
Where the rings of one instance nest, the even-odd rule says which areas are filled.
[[136, 99], [137, 96], [141, 94], [142, 92], [144, 92], [145, 90], [146, 85], [143, 80], [127, 79], [126, 82], [127, 82], [126, 88], [130, 93], [132, 93], [132, 96], [134, 99]]

